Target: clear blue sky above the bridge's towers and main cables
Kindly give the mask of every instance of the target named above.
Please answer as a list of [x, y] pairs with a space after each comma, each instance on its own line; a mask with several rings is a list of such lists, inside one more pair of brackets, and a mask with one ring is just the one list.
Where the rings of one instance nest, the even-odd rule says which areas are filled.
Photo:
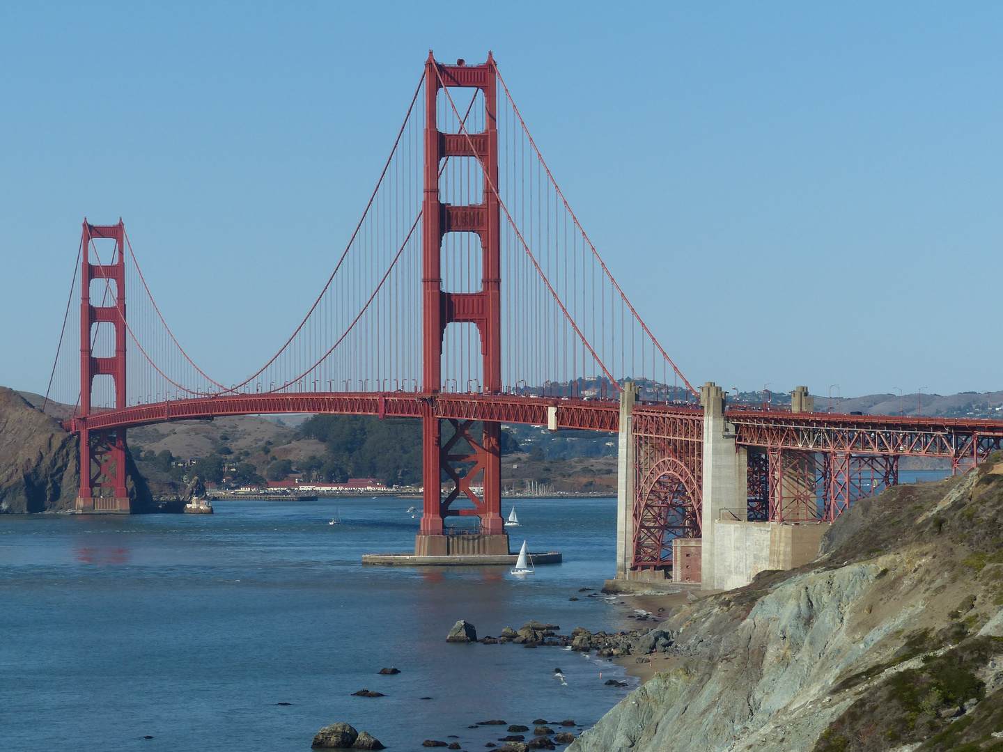
[[[696, 382], [1003, 389], [998, 3], [3, 3], [0, 384], [44, 391], [84, 216], [240, 380], [344, 247], [428, 49], [488, 49]], [[256, 299], [257, 298], [257, 299]]]

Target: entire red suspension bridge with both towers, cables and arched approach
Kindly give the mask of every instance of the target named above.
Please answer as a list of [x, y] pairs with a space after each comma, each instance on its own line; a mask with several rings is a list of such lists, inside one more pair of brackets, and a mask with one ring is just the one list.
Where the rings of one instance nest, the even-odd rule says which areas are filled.
[[129, 426], [295, 412], [420, 419], [416, 551], [427, 554], [448, 552], [443, 520], [455, 515], [479, 517], [480, 552], [508, 552], [501, 423], [618, 431], [621, 574], [667, 569], [672, 540], [700, 537], [723, 510], [831, 520], [897, 483], [899, 457], [964, 469], [1003, 439], [997, 421], [816, 413], [803, 394], [791, 411], [737, 410], [709, 382], [695, 390], [590, 242], [490, 55], [445, 65], [429, 54], [333, 272], [240, 383], [216, 380], [182, 347], [122, 222], [84, 221], [46, 397], [76, 406], [65, 425], [80, 436], [81, 512], [129, 510]]

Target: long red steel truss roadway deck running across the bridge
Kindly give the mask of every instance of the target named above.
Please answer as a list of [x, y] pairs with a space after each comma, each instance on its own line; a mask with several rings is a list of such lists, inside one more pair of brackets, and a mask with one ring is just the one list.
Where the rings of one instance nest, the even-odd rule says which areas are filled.
[[[381, 418], [433, 416], [546, 425], [553, 429], [620, 431], [620, 404], [616, 400], [414, 392], [220, 395], [95, 411], [85, 420], [88, 429], [97, 430], [226, 415], [288, 413], [377, 415]], [[1003, 440], [1003, 420], [791, 413], [743, 407], [729, 407], [725, 415], [728, 423], [734, 426], [736, 443], [750, 447], [948, 457], [965, 461], [981, 458], [987, 451], [1000, 448]], [[644, 424], [644, 432], [649, 435], [691, 441], [701, 438], [701, 407], [638, 403], [633, 417], [636, 426]], [[63, 426], [78, 432], [83, 424], [84, 419], [77, 417], [64, 421]]]

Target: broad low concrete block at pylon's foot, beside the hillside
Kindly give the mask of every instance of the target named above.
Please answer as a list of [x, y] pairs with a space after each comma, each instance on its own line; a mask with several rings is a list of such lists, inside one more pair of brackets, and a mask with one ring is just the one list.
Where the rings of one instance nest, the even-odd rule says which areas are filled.
[[[714, 580], [704, 583], [704, 587], [732, 590], [748, 585], [763, 570], [793, 570], [806, 565], [818, 555], [818, 541], [828, 526], [828, 522], [786, 524], [717, 519], [713, 526]], [[704, 532], [709, 530], [705, 528]], [[706, 541], [707, 537], [703, 539]]]

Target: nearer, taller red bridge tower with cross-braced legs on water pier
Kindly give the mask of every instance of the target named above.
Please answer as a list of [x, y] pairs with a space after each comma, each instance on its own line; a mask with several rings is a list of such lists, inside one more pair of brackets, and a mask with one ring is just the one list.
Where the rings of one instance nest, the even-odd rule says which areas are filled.
[[[490, 53], [482, 65], [442, 65], [428, 53], [425, 62], [425, 163], [424, 200], [422, 203], [422, 391], [438, 394], [442, 385], [442, 339], [447, 324], [473, 323], [480, 334], [483, 368], [483, 391], [501, 391], [501, 303], [500, 228], [497, 196], [497, 75]], [[479, 133], [443, 133], [436, 125], [436, 99], [442, 87], [478, 88], [483, 92], [484, 130]], [[483, 200], [469, 206], [443, 204], [439, 196], [439, 164], [449, 156], [468, 156], [483, 167]], [[482, 278], [475, 293], [442, 290], [441, 253], [446, 233], [475, 233], [480, 238]], [[422, 456], [424, 509], [421, 531], [415, 541], [415, 553], [445, 555], [454, 553], [508, 553], [509, 536], [501, 519], [501, 463], [499, 423], [483, 421], [478, 441], [471, 428], [473, 421], [452, 420], [453, 435], [442, 443], [441, 422], [429, 405], [422, 416]], [[467, 448], [467, 446], [469, 448]], [[455, 463], [473, 462], [469, 469]], [[441, 495], [441, 473], [445, 472], [455, 488]], [[477, 495], [473, 483], [482, 473], [482, 491]], [[453, 507], [460, 496], [472, 508]], [[443, 534], [446, 516], [479, 516], [477, 535]]]

